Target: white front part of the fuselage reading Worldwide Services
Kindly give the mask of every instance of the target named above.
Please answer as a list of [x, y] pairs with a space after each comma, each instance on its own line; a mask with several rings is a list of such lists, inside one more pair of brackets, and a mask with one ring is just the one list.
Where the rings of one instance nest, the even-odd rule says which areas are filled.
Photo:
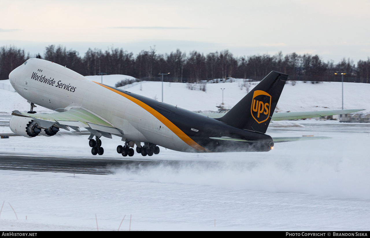
[[9, 79], [13, 88], [28, 101], [57, 112], [84, 108], [122, 130], [123, 139], [198, 152], [124, 96], [53, 62], [35, 58], [26, 62], [14, 69]]

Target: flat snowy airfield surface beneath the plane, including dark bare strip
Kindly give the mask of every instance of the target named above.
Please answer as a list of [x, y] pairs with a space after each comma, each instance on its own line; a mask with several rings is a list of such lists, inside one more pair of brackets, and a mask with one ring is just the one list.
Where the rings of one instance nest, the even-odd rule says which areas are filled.
[[102, 138], [102, 156], [74, 132], [0, 139], [0, 226], [117, 231], [132, 214], [131, 230], [369, 229], [370, 124], [288, 121], [267, 134], [332, 139], [151, 157], [122, 157], [119, 137]]

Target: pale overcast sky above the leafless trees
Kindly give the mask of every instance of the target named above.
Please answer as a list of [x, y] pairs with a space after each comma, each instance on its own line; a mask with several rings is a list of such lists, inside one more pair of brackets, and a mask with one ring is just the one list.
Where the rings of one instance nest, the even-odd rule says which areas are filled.
[[341, 0], [0, 0], [0, 45], [43, 54], [63, 44], [81, 54], [156, 45], [234, 55], [297, 52], [335, 62], [370, 56], [370, 1]]

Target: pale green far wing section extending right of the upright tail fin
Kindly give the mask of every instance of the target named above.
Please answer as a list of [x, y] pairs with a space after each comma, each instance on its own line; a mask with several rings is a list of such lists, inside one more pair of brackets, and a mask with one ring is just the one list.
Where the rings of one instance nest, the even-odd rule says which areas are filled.
[[294, 120], [304, 118], [318, 118], [320, 116], [332, 116], [363, 111], [365, 109], [328, 110], [316, 112], [277, 112], [272, 115], [271, 120]]

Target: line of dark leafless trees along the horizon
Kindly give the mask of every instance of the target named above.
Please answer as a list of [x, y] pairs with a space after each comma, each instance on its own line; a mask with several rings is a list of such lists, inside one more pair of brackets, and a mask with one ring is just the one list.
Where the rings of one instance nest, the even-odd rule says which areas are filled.
[[158, 80], [159, 72], [169, 72], [165, 81], [199, 82], [201, 80], [245, 78], [260, 80], [270, 71], [289, 75], [292, 81], [340, 81], [335, 72], [345, 72], [346, 82], [370, 83], [370, 58], [359, 60], [343, 58], [337, 64], [323, 61], [319, 55], [296, 53], [283, 55], [250, 55], [235, 57], [228, 50], [203, 54], [191, 51], [188, 54], [177, 49], [169, 54], [158, 54], [155, 47], [142, 50], [137, 55], [122, 48], [92, 50], [82, 56], [75, 50], [62, 45], [49, 45], [41, 56], [25, 54], [24, 50], [10, 46], [0, 47], [0, 79], [7, 79], [14, 68], [31, 57], [56, 62], [82, 74], [124, 74], [145, 80]]

